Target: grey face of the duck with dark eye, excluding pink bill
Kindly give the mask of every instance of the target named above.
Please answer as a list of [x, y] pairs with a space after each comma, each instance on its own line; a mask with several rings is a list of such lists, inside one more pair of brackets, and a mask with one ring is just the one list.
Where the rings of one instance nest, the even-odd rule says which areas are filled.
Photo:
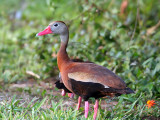
[[68, 28], [65, 23], [57, 21], [49, 24], [53, 34], [64, 35], [68, 33]]

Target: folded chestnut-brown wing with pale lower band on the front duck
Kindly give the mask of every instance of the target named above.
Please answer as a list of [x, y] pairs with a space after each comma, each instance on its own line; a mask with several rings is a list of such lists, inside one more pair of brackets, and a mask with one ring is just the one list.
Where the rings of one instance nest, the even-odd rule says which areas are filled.
[[125, 89], [125, 82], [109, 69], [94, 63], [73, 63], [68, 67], [69, 79], [98, 83], [105, 88]]

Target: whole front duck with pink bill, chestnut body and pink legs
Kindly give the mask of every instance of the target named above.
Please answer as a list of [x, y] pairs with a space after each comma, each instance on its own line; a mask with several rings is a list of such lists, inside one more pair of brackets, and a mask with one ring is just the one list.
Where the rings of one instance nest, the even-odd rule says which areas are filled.
[[109, 69], [94, 63], [73, 62], [70, 60], [66, 52], [69, 30], [64, 22], [52, 22], [37, 36], [46, 34], [60, 35], [61, 46], [57, 55], [57, 62], [62, 81], [69, 91], [84, 99], [86, 118], [89, 111], [88, 99], [90, 97], [96, 99], [93, 116], [96, 120], [99, 105], [98, 98], [134, 93], [133, 90], [126, 87], [125, 82], [120, 77]]

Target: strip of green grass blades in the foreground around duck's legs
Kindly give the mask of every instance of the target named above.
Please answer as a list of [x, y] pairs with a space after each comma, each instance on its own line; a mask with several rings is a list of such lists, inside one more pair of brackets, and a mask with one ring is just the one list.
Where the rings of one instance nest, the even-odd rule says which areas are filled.
[[[141, 120], [146, 116], [159, 117], [160, 110], [158, 106], [148, 109], [144, 100], [144, 95], [135, 97], [129, 95], [119, 97], [119, 102], [116, 106], [111, 106], [108, 109], [99, 108], [97, 120], [102, 119], [132, 119]], [[135, 98], [134, 98], [135, 97]], [[76, 106], [64, 106], [62, 98], [54, 101], [53, 96], [46, 96], [43, 99], [34, 97], [30, 102], [26, 102], [25, 98], [18, 98], [13, 96], [12, 99], [0, 102], [0, 118], [2, 120], [17, 120], [17, 119], [31, 119], [31, 120], [78, 120], [85, 119], [83, 115], [83, 108], [77, 111]], [[55, 98], [56, 99], [56, 98]], [[156, 104], [159, 104], [156, 102]], [[49, 107], [48, 107], [49, 106]], [[92, 111], [89, 112], [88, 120], [93, 119], [93, 105], [90, 105]], [[156, 112], [155, 112], [156, 111]]]

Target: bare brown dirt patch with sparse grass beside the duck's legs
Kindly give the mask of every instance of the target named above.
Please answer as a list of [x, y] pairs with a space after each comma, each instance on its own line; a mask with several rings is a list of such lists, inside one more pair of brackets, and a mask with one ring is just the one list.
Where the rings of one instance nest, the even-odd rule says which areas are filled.
[[[10, 103], [13, 96], [16, 95], [16, 99], [20, 100], [20, 103], [25, 102], [26, 105], [34, 98], [35, 101], [33, 104], [42, 100], [45, 96], [47, 96], [47, 100], [45, 104], [43, 104], [42, 108], [49, 109], [51, 106], [51, 101], [53, 100], [55, 103], [58, 103], [62, 100], [62, 106], [64, 109], [68, 107], [76, 108], [78, 96], [74, 98], [69, 98], [68, 95], [65, 97], [61, 96], [61, 90], [55, 88], [54, 83], [57, 81], [56, 78], [48, 78], [44, 81], [37, 81], [33, 78], [28, 79], [27, 81], [13, 83], [8, 86], [7, 90], [2, 90], [0, 93], [0, 101], [6, 101]], [[44, 95], [43, 95], [44, 92]], [[110, 98], [109, 98], [110, 99]], [[109, 99], [107, 101], [109, 101]], [[90, 100], [90, 109], [93, 109], [94, 102]], [[111, 106], [116, 105], [117, 101], [109, 101], [106, 102], [106, 99], [101, 100], [101, 108], [108, 109]], [[81, 107], [84, 107], [84, 102], [82, 102]]]

